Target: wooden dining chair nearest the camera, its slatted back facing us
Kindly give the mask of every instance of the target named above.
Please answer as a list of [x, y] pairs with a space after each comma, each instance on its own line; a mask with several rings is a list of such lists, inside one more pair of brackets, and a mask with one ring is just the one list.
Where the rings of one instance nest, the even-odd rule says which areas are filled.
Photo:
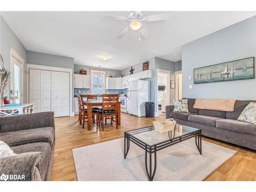
[[[110, 119], [111, 125], [113, 121], [116, 122], [116, 129], [118, 129], [117, 118], [117, 104], [119, 101], [119, 94], [103, 94], [102, 95], [102, 111], [99, 113], [99, 127], [102, 125], [104, 131], [104, 119]], [[114, 120], [115, 119], [115, 120]]]

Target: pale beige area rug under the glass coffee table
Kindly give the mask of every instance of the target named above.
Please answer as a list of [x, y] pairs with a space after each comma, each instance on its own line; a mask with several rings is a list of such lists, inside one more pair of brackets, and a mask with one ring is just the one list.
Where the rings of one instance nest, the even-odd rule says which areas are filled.
[[[148, 181], [144, 150], [131, 142], [124, 159], [123, 145], [123, 139], [115, 139], [74, 148], [77, 180]], [[202, 141], [202, 152], [200, 155], [194, 138], [157, 152], [154, 181], [202, 181], [237, 153], [206, 141]]]

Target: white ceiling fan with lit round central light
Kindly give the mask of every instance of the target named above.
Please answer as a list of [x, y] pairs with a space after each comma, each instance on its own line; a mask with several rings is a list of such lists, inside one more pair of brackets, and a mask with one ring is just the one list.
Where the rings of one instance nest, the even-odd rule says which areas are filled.
[[143, 16], [141, 11], [132, 11], [127, 17], [108, 14], [103, 14], [103, 16], [107, 16], [116, 20], [123, 20], [128, 23], [128, 25], [121, 31], [121, 33], [119, 33], [116, 38], [122, 38], [125, 33], [132, 29], [134, 31], [139, 31], [139, 40], [141, 39], [141, 36], [144, 38], [150, 37], [150, 34], [148, 34], [147, 30], [143, 27], [143, 23], [156, 22], [158, 20], [166, 20], [169, 18], [169, 15], [166, 13]]

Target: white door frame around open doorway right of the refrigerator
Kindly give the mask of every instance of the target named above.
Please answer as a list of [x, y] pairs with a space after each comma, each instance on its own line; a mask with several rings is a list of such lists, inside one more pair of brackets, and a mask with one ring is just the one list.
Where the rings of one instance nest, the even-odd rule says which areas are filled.
[[166, 105], [169, 105], [170, 104], [170, 73], [171, 71], [169, 70], [163, 70], [163, 69], [157, 69], [156, 70], [157, 74], [156, 74], [156, 94], [155, 94], [155, 97], [156, 97], [156, 108], [155, 108], [155, 117], [158, 117], [159, 114], [158, 114], [158, 73], [164, 73], [167, 75], [167, 82], [166, 82]]

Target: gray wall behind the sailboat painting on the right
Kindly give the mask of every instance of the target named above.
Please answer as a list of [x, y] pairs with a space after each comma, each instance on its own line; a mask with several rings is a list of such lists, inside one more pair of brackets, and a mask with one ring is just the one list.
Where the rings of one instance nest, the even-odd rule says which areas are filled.
[[201, 84], [188, 80], [189, 75], [193, 76], [194, 68], [251, 56], [256, 56], [256, 16], [182, 46], [183, 97], [255, 100], [256, 79]]

